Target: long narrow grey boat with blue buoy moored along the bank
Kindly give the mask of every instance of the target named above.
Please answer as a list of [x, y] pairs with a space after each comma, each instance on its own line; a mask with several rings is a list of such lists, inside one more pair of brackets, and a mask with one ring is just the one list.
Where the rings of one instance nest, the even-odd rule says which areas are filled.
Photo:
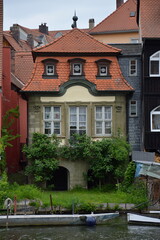
[[53, 214], [53, 215], [5, 215], [0, 216], [0, 227], [18, 226], [72, 226], [105, 224], [119, 213]]

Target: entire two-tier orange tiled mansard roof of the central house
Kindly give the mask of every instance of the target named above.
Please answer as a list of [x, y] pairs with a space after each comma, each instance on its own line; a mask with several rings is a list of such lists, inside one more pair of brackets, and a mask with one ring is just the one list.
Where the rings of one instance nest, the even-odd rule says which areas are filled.
[[[30, 81], [23, 88], [23, 91], [58, 93], [63, 84], [71, 82], [69, 80], [70, 69], [68, 60], [75, 56], [83, 56], [83, 59], [86, 61], [84, 83], [87, 81], [92, 83], [95, 86], [96, 91], [133, 91], [133, 88], [122, 76], [118, 59], [116, 57], [119, 52], [119, 49], [105, 45], [83, 31], [75, 28], [47, 46], [33, 51], [37, 57], [34, 70]], [[58, 60], [58, 79], [44, 79], [42, 77], [44, 72], [44, 64], [42, 61], [53, 55], [56, 56], [56, 59]], [[102, 58], [108, 59], [111, 62], [111, 78], [96, 78], [97, 67], [95, 61]], [[80, 83], [81, 80], [77, 82], [77, 84]]]

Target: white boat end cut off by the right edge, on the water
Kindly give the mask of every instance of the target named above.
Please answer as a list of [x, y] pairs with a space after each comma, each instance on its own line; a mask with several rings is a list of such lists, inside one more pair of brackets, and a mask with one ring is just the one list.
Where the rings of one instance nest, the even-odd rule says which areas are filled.
[[148, 217], [133, 213], [127, 213], [127, 221], [129, 224], [160, 226], [160, 218]]

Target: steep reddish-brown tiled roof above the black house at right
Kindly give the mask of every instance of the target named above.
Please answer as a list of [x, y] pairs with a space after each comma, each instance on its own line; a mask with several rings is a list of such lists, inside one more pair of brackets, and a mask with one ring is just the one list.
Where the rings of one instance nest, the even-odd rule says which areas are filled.
[[160, 1], [140, 0], [139, 25], [142, 38], [160, 38]]

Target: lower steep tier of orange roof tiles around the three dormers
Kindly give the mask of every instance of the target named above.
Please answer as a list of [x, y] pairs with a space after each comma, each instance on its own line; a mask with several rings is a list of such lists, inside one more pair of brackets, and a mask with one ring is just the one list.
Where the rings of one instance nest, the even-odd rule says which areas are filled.
[[[133, 91], [134, 89], [128, 84], [124, 79], [119, 63], [116, 56], [106, 57], [111, 61], [110, 74], [111, 78], [97, 79], [97, 68], [95, 66], [95, 61], [100, 59], [99, 57], [83, 57], [86, 60], [85, 64], [85, 79], [96, 86], [97, 91]], [[23, 88], [25, 92], [59, 92], [60, 87], [69, 80], [69, 66], [68, 59], [71, 57], [56, 57], [59, 61], [57, 66], [58, 79], [44, 79], [42, 77], [44, 72], [44, 66], [42, 61], [46, 57], [37, 57], [34, 64], [34, 70], [30, 81]], [[78, 81], [79, 82], [79, 81]], [[77, 84], [79, 84], [77, 82]]]

